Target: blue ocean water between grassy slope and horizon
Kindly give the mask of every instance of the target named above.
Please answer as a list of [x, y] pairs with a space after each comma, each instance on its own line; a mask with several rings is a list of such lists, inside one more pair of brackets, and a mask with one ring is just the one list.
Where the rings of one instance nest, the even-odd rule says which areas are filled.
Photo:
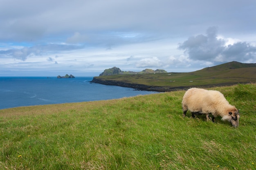
[[157, 92], [90, 83], [93, 77], [0, 77], [0, 109], [118, 99]]

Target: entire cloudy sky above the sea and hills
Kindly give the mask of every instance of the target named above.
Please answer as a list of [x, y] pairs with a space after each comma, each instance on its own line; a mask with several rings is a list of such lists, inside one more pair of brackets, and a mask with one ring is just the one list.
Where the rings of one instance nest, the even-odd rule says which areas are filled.
[[255, 0], [0, 0], [0, 76], [256, 63]]

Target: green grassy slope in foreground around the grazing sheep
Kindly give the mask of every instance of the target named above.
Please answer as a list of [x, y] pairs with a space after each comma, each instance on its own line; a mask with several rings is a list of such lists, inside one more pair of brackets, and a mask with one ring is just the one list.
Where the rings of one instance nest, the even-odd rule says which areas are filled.
[[0, 169], [253, 170], [256, 84], [214, 87], [240, 110], [182, 117], [185, 91], [0, 110]]

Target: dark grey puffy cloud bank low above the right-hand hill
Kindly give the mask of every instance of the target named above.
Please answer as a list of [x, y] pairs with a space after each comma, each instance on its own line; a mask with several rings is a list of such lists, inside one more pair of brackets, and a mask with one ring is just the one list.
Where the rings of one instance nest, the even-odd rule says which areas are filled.
[[256, 47], [247, 42], [227, 44], [227, 40], [217, 36], [218, 29], [209, 27], [206, 35], [188, 38], [178, 46], [191, 60], [208, 62], [252, 61], [256, 57]]

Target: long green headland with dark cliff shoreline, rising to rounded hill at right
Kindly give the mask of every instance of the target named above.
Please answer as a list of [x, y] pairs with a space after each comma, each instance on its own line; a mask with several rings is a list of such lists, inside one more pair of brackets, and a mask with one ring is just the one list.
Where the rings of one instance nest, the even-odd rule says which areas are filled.
[[147, 91], [174, 91], [190, 87], [224, 86], [256, 82], [256, 64], [229, 62], [189, 73], [105, 75], [94, 77], [92, 82]]

